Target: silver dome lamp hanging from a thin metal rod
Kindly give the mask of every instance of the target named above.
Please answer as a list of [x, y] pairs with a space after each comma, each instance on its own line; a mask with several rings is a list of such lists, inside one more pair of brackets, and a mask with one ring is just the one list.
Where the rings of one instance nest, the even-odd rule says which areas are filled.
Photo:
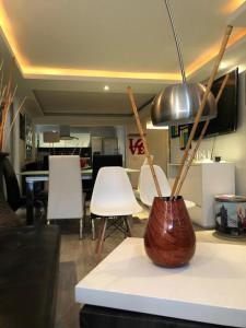
[[[176, 44], [183, 83], [167, 86], [153, 99], [151, 119], [154, 126], [160, 127], [194, 122], [206, 91], [202, 84], [187, 83], [186, 81], [181, 51], [168, 0], [165, 0], [165, 5]], [[200, 120], [202, 121], [214, 117], [216, 117], [216, 103], [213, 94], [210, 92]]]

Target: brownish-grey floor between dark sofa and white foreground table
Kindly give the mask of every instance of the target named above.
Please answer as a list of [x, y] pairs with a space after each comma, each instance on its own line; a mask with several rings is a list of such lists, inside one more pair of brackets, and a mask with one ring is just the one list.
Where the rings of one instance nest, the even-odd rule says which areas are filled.
[[[132, 219], [132, 236], [142, 237], [147, 224], [148, 211]], [[92, 241], [90, 215], [86, 215], [84, 237], [79, 239], [78, 220], [62, 220], [58, 223], [61, 230], [60, 267], [56, 328], [79, 328], [80, 304], [74, 301], [74, 285], [85, 277], [96, 265], [95, 246]], [[98, 230], [99, 220], [96, 220]], [[213, 231], [204, 231], [195, 226], [197, 241], [209, 243], [246, 244], [246, 238], [230, 238], [220, 236]], [[103, 247], [102, 258], [106, 257], [124, 241], [119, 231], [108, 237]]]

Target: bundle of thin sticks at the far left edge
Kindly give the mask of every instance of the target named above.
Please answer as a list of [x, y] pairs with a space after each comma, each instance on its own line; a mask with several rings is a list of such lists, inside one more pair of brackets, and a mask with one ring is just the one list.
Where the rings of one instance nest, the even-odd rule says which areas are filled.
[[9, 73], [4, 77], [4, 67], [3, 60], [0, 65], [0, 151], [3, 151], [4, 145], [7, 144], [14, 122], [17, 118], [19, 113], [23, 108], [25, 103], [24, 98], [20, 106], [17, 107], [13, 120], [11, 121], [9, 129], [7, 131], [7, 121], [10, 114], [10, 108], [13, 103], [14, 96], [16, 94], [17, 85], [13, 83], [13, 68], [14, 59], [12, 60], [9, 69]]

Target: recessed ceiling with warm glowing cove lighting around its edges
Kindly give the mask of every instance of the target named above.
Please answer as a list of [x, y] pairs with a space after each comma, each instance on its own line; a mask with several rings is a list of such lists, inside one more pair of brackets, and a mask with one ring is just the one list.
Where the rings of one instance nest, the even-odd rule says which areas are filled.
[[[226, 22], [244, 2], [169, 0], [189, 79], [209, 75]], [[37, 115], [126, 116], [127, 85], [141, 106], [180, 81], [163, 0], [0, 0], [0, 23]], [[234, 28], [226, 69], [242, 62], [245, 36]]]

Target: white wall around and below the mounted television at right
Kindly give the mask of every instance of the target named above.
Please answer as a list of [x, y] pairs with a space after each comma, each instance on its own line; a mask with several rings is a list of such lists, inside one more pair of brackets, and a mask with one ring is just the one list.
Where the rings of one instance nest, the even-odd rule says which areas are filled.
[[[236, 194], [246, 195], [246, 85], [245, 72], [239, 74], [238, 92], [238, 127], [236, 132], [215, 138], [213, 156], [221, 156], [224, 161], [236, 165]], [[201, 151], [211, 151], [214, 138], [201, 142]], [[171, 139], [171, 162], [179, 163], [183, 151], [179, 150], [178, 138]]]

